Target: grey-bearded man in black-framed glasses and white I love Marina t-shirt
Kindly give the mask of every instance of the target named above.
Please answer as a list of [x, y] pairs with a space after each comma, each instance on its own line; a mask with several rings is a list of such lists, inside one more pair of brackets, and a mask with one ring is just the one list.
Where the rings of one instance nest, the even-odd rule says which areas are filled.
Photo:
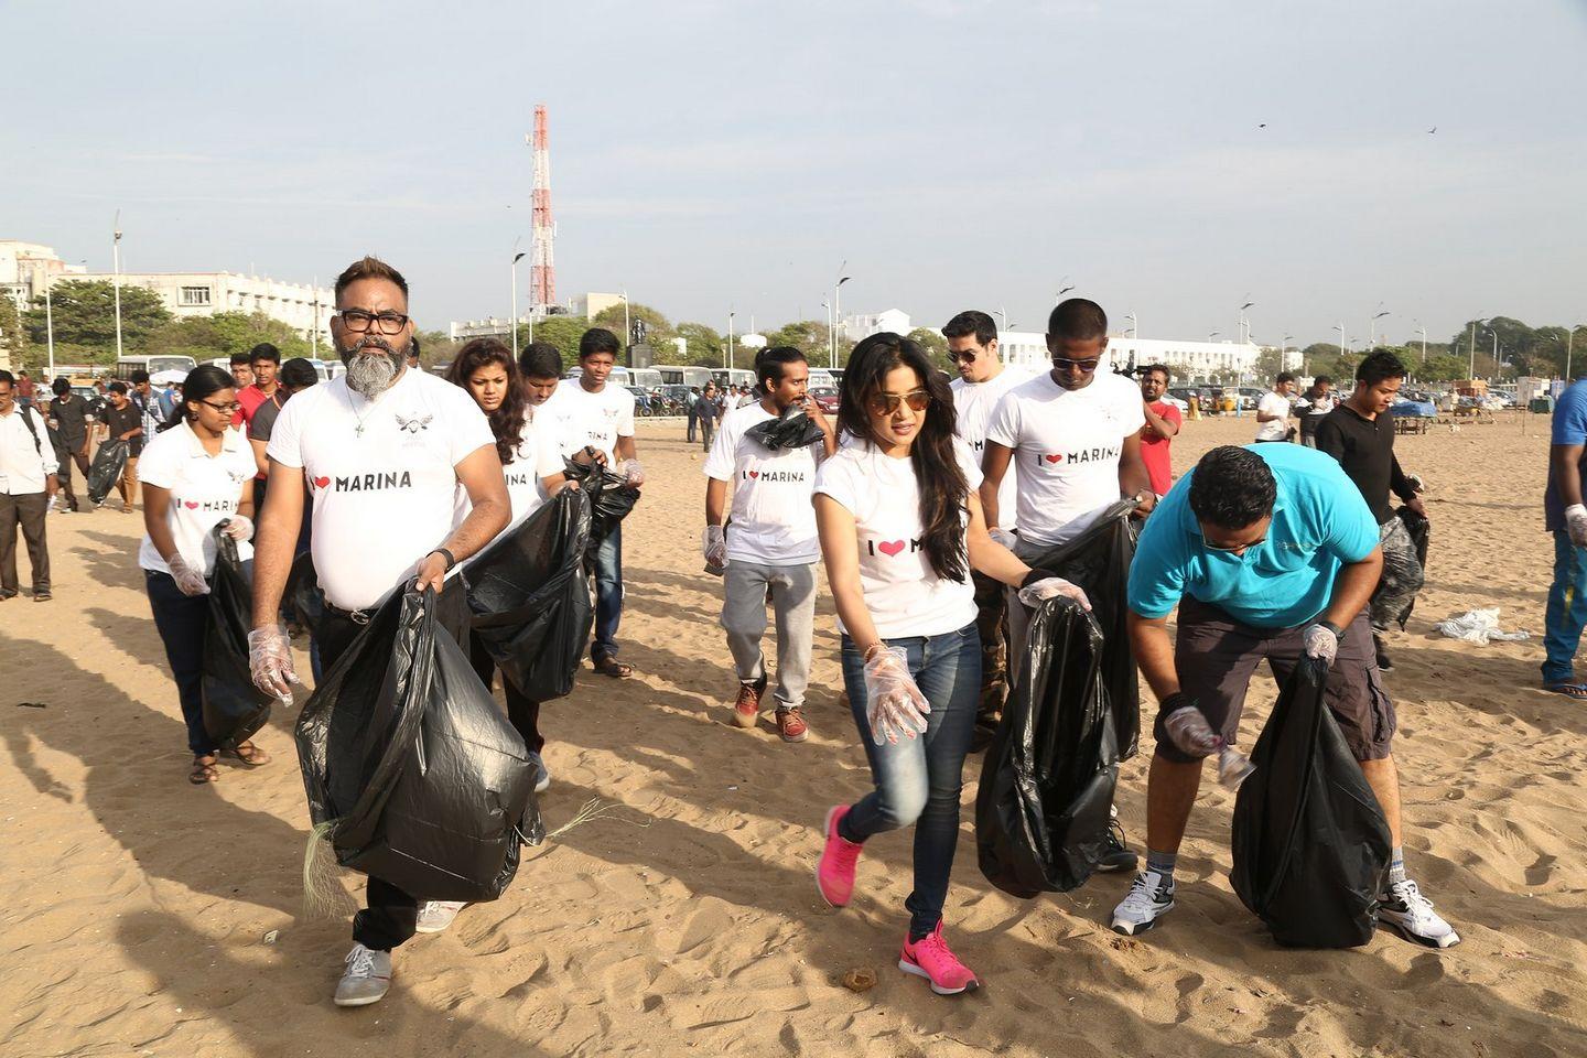
[[[325, 669], [409, 579], [441, 590], [448, 571], [508, 523], [506, 479], [495, 436], [468, 392], [409, 370], [408, 281], [365, 257], [336, 278], [330, 338], [344, 374], [295, 393], [281, 408], [265, 454], [270, 487], [254, 541], [254, 631], [249, 668], [260, 690], [292, 701], [292, 654], [279, 623], [281, 593], [313, 496], [309, 550], [325, 615], [316, 628]], [[471, 508], [454, 522], [462, 485]], [[375, 876], [352, 922], [352, 952], [336, 1006], [378, 1002], [390, 988], [390, 950], [414, 934], [419, 904]]]

